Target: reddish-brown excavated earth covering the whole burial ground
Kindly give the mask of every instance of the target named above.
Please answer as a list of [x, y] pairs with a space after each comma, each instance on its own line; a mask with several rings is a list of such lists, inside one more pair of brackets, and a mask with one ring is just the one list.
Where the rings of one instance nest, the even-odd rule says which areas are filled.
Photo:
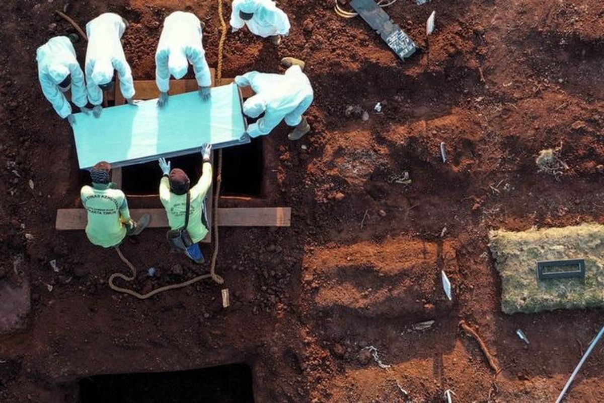
[[[55, 230], [57, 209], [80, 206], [86, 175], [71, 128], [40, 91], [35, 51], [74, 32], [54, 12], [66, 4], [0, 4], [0, 325], [10, 329], [0, 336], [1, 402], [441, 402], [447, 389], [455, 402], [556, 399], [604, 315], [503, 314], [487, 236], [604, 222], [603, 2], [399, 0], [387, 11], [422, 47], [406, 62], [361, 19], [336, 16], [332, 0], [280, 2], [292, 30], [278, 48], [229, 34], [224, 77], [277, 73], [281, 57], [298, 56], [315, 102], [305, 138], [289, 141], [281, 125], [263, 140], [260, 194], [220, 201], [292, 207], [290, 228], [220, 228], [228, 309], [211, 282], [144, 301], [117, 294], [108, 277], [127, 268], [115, 252]], [[217, 1], [66, 8], [82, 26], [105, 11], [130, 21], [123, 42], [137, 80], [153, 79], [162, 20], [174, 10], [205, 21], [216, 67]], [[76, 44], [80, 62], [85, 46]], [[538, 172], [539, 150], [560, 145], [568, 170]], [[232, 160], [225, 170], [248, 167]], [[400, 183], [405, 172], [411, 184]], [[161, 205], [132, 197], [130, 207]], [[140, 270], [139, 291], [207, 270], [168, 253], [160, 229], [123, 251]], [[604, 401], [603, 368], [598, 347], [567, 401]]]

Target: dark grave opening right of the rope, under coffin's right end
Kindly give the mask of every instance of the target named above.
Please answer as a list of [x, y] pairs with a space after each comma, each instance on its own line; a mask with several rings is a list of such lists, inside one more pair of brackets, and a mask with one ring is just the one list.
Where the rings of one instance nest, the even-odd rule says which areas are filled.
[[258, 197], [262, 192], [262, 137], [222, 150], [221, 192], [225, 196]]

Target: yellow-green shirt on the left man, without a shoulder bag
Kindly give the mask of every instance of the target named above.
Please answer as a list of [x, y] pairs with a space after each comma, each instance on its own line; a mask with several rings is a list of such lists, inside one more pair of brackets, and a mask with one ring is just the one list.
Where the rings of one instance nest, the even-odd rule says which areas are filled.
[[94, 245], [111, 248], [126, 236], [124, 222], [130, 221], [126, 195], [115, 184], [84, 186], [80, 198], [88, 212], [86, 236]]

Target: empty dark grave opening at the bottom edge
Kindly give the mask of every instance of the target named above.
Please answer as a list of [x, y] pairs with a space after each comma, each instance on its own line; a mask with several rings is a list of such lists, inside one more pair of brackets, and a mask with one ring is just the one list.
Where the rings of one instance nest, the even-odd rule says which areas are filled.
[[95, 375], [79, 381], [81, 403], [253, 403], [252, 372], [230, 364], [178, 372]]

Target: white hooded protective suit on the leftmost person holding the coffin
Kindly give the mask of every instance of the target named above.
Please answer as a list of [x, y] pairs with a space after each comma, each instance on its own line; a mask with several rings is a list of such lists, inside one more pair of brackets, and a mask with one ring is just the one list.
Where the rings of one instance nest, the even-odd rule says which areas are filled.
[[60, 117], [71, 114], [71, 105], [60, 91], [59, 83], [71, 74], [71, 100], [82, 108], [88, 103], [84, 74], [76, 59], [71, 40], [66, 36], [56, 36], [37, 48], [38, 78], [42, 92]]

